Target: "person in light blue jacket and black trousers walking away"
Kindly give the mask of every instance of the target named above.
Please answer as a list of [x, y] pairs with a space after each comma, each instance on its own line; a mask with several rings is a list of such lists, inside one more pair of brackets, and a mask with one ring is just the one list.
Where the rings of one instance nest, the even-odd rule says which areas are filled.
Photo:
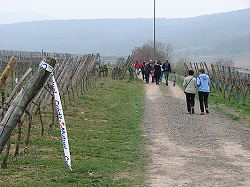
[[198, 94], [199, 94], [199, 101], [200, 101], [200, 109], [201, 115], [204, 115], [204, 107], [205, 111], [208, 114], [208, 96], [210, 92], [210, 78], [207, 74], [205, 74], [204, 69], [199, 69], [199, 75], [196, 78], [197, 87], [198, 87]]

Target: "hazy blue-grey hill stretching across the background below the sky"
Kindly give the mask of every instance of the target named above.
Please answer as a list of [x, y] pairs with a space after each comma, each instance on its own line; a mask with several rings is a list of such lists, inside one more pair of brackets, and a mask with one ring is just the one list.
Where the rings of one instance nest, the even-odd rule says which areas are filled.
[[[250, 9], [185, 19], [157, 19], [156, 38], [178, 57], [250, 56]], [[126, 56], [153, 38], [152, 19], [36, 21], [0, 25], [0, 49], [100, 52]]]

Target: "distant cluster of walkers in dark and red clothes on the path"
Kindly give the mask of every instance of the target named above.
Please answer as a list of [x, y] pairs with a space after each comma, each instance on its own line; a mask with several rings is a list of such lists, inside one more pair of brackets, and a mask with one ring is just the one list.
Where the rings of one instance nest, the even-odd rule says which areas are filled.
[[172, 73], [173, 86], [176, 84], [175, 72], [172, 71], [168, 60], [166, 60], [163, 64], [159, 60], [156, 60], [155, 62], [152, 60], [149, 62], [144, 61], [143, 63], [136, 61], [135, 70], [137, 76], [141, 71], [142, 79], [146, 81], [146, 84], [149, 84], [150, 76], [152, 77], [152, 83], [155, 82], [156, 84], [159, 84], [159, 82], [161, 82], [162, 78], [164, 77], [166, 86], [168, 86], [168, 78], [170, 73]]

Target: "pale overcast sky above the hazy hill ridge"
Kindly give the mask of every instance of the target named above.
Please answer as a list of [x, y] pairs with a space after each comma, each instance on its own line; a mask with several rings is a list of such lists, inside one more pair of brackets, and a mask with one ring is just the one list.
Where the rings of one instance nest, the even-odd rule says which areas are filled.
[[[250, 7], [250, 0], [156, 0], [156, 16], [193, 17]], [[0, 0], [0, 24], [45, 19], [152, 18], [153, 0]]]

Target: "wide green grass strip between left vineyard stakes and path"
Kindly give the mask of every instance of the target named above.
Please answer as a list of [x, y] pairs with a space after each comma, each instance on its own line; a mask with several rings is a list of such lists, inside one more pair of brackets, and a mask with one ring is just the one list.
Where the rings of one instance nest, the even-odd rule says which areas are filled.
[[1, 169], [5, 186], [145, 186], [148, 155], [141, 123], [144, 115], [141, 81], [103, 79], [65, 110], [73, 172], [66, 168], [58, 128], [44, 137], [39, 123], [27, 152]]

